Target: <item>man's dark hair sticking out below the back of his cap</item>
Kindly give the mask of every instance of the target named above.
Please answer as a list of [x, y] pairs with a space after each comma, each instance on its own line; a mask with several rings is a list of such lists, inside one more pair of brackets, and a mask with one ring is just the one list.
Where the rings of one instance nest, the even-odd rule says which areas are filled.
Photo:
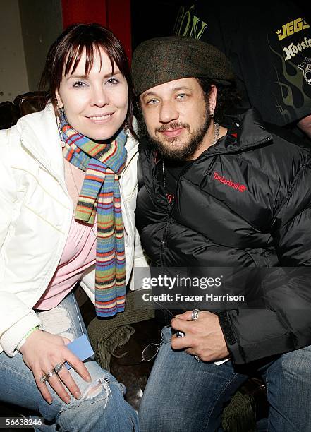
[[211, 92], [211, 85], [214, 84], [217, 87], [217, 100], [214, 112], [214, 121], [219, 124], [225, 124], [226, 114], [234, 114], [234, 109], [240, 104], [240, 96], [236, 88], [236, 84], [224, 85], [215, 83], [209, 78], [196, 78], [200, 84], [204, 94], [205, 100], [208, 100], [209, 94]]

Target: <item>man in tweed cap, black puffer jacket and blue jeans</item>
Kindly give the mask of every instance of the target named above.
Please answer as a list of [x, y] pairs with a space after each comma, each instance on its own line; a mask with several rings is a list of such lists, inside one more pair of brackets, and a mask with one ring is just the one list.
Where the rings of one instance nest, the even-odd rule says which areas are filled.
[[234, 114], [232, 68], [205, 42], [142, 42], [132, 68], [143, 176], [136, 221], [153, 265], [283, 275], [263, 277], [262, 308], [171, 320], [185, 336], [163, 330], [142, 431], [217, 430], [224, 404], [255, 372], [267, 382], [271, 430], [310, 431], [310, 283], [295, 269], [311, 265], [310, 150], [267, 131], [255, 109]]

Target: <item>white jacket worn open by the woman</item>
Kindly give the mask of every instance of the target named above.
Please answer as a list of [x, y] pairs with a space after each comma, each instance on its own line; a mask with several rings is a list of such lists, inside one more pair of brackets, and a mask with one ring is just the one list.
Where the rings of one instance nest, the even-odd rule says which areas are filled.
[[[128, 138], [126, 150], [120, 188], [128, 284], [134, 260], [141, 267], [147, 263], [135, 230], [138, 143]], [[20, 340], [41, 324], [32, 306], [54, 275], [72, 217], [59, 131], [48, 104], [0, 131], [0, 352], [16, 354]], [[94, 266], [80, 284], [94, 303]]]

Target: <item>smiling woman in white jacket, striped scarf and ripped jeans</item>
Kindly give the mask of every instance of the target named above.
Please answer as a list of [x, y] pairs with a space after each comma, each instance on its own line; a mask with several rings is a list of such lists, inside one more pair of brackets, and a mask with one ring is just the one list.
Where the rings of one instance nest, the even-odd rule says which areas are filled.
[[45, 109], [0, 134], [1, 400], [49, 420], [37, 430], [136, 431], [123, 386], [66, 347], [86, 332], [75, 284], [97, 315], [113, 316], [134, 260], [146, 265], [126, 54], [109, 30], [73, 25], [51, 46], [42, 83]]

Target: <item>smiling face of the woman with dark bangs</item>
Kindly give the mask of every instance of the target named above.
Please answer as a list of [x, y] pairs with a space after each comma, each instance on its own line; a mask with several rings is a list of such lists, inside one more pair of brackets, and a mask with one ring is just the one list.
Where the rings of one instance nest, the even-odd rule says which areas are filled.
[[102, 48], [94, 49], [94, 63], [85, 76], [85, 50], [72, 74], [63, 76], [56, 92], [68, 123], [92, 140], [106, 140], [118, 131], [128, 110], [126, 78]]

